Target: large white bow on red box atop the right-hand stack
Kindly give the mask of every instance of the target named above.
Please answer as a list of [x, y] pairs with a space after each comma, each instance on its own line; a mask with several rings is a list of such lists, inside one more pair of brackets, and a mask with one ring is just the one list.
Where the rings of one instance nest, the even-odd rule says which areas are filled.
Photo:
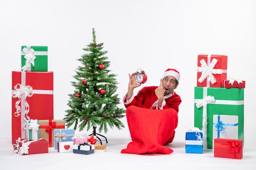
[[216, 83], [216, 79], [213, 76], [213, 74], [222, 74], [221, 69], [213, 69], [215, 64], [218, 62], [217, 59], [213, 58], [209, 66], [207, 66], [206, 62], [204, 59], [200, 60], [201, 67], [197, 67], [195, 70], [198, 72], [202, 72], [201, 77], [198, 79], [198, 82], [202, 83], [206, 77], [208, 77], [209, 82], [211, 84]]

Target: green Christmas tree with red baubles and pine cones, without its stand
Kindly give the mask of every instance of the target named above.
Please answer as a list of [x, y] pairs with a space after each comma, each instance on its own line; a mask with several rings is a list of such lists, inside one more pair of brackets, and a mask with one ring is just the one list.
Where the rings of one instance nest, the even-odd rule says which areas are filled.
[[[82, 131], [87, 126], [87, 131], [93, 127], [107, 133], [108, 126], [119, 130], [124, 124], [119, 120], [126, 112], [119, 108], [120, 99], [117, 91], [117, 75], [110, 73], [110, 62], [103, 51], [103, 43], [97, 44], [94, 29], [92, 29], [92, 43], [88, 44], [85, 54], [77, 59], [83, 66], [76, 68], [76, 81], [71, 82], [74, 86], [74, 94], [69, 94], [70, 100], [67, 105], [70, 109], [65, 110], [65, 122], [67, 128], [74, 125], [74, 129]], [[101, 135], [102, 136], [102, 135]]]

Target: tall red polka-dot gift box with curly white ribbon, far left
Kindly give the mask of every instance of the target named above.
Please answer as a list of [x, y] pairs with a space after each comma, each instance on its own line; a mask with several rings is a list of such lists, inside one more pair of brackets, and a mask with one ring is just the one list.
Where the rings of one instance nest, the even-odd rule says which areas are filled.
[[11, 136], [25, 139], [26, 120], [53, 119], [53, 72], [12, 71]]

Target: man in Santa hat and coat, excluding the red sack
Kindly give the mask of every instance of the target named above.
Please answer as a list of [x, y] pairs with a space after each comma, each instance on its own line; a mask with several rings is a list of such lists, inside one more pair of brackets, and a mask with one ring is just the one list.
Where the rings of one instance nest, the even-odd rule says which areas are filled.
[[179, 81], [180, 73], [175, 69], [168, 68], [160, 79], [159, 86], [144, 87], [134, 96], [133, 90], [141, 84], [136, 82], [135, 73], [132, 73], [132, 75], [129, 73], [128, 93], [123, 98], [124, 106], [128, 108], [133, 105], [150, 109], [173, 108], [179, 112], [181, 99], [174, 92]]

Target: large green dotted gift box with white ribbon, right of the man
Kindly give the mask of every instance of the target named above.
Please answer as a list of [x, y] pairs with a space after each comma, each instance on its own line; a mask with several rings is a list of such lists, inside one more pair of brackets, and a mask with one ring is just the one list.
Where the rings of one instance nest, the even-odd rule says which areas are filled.
[[202, 130], [203, 148], [213, 148], [213, 115], [238, 116], [238, 139], [244, 140], [244, 88], [195, 87], [194, 99], [194, 126]]

